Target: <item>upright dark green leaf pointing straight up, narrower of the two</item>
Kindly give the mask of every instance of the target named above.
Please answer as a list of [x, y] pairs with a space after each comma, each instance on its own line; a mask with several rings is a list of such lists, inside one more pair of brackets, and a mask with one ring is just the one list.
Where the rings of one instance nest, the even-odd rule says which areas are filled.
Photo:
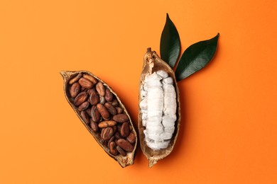
[[161, 59], [173, 68], [180, 54], [180, 37], [168, 13], [166, 13], [165, 27], [161, 34], [160, 51]]

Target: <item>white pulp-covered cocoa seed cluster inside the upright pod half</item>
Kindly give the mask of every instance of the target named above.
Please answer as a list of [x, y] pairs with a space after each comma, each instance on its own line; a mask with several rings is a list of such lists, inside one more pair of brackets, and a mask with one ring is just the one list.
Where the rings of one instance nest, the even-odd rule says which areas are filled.
[[177, 103], [173, 79], [166, 71], [146, 75], [139, 106], [147, 146], [153, 150], [167, 148], [175, 130]]

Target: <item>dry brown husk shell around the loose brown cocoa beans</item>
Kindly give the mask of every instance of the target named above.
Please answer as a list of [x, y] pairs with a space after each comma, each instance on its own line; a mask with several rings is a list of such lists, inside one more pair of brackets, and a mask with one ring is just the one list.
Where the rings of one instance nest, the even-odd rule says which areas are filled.
[[[124, 110], [124, 113], [126, 113], [126, 115], [129, 117], [129, 122], [130, 122], [130, 125], [132, 127], [132, 131], [131, 132], [133, 132], [135, 134], [136, 142], [134, 144], [134, 150], [132, 152], [127, 152], [126, 156], [121, 156], [120, 154], [117, 155], [117, 156], [114, 156], [114, 155], [110, 154], [109, 153], [109, 148], [107, 146], [102, 144], [103, 140], [101, 139], [100, 134], [97, 134], [97, 133], [93, 132], [92, 129], [89, 127], [89, 125], [87, 125], [84, 122], [84, 120], [82, 120], [80, 112], [77, 110], [77, 107], [75, 107], [75, 105], [73, 104], [73, 98], [70, 96], [70, 84], [68, 84], [68, 83], [69, 83], [70, 79], [74, 78], [75, 76], [77, 76], [77, 74], [80, 74], [80, 73], [82, 73], [82, 74], [89, 74], [90, 76], [93, 76], [95, 79], [97, 79], [97, 81], [101, 81], [104, 86], [109, 88], [109, 90], [114, 94], [116, 99], [119, 101], [119, 107], [121, 107]], [[112, 90], [112, 88], [109, 87], [104, 81], [102, 81], [101, 79], [99, 79], [97, 76], [95, 76], [94, 74], [92, 74], [89, 71], [60, 71], [60, 74], [63, 76], [63, 79], [64, 79], [63, 90], [65, 92], [65, 98], [67, 99], [67, 102], [70, 104], [70, 106], [72, 107], [72, 109], [76, 113], [77, 117], [79, 117], [79, 119], [81, 120], [82, 124], [85, 125], [85, 127], [87, 128], [89, 133], [92, 134], [92, 136], [97, 141], [97, 143], [100, 146], [102, 146], [104, 151], [106, 151], [106, 153], [109, 156], [111, 156], [112, 159], [116, 160], [120, 164], [120, 166], [122, 168], [134, 164], [134, 158], [136, 156], [136, 145], [137, 145], [137, 142], [138, 142], [136, 130], [134, 128], [133, 123], [131, 122], [131, 117], [130, 117], [129, 113], [127, 112], [125, 106], [122, 104], [121, 100], [116, 95], [116, 93]]]

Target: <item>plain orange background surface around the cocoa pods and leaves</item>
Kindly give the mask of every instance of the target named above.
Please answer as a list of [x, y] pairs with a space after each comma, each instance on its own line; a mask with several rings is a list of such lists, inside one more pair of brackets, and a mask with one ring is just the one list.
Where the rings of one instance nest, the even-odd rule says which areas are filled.
[[[277, 183], [277, 1], [0, 1], [0, 183]], [[147, 47], [165, 15], [182, 51], [220, 33], [205, 69], [178, 84], [175, 149], [121, 168], [65, 100], [60, 70], [91, 71], [137, 124]]]

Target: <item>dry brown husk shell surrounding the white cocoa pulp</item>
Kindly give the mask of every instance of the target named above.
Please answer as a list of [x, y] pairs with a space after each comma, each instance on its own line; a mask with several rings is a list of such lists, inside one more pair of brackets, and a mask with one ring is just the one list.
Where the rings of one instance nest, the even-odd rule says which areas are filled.
[[[141, 85], [143, 85], [143, 81], [146, 77], [146, 74], [152, 74], [154, 71], [158, 70], [164, 70], [168, 72], [168, 76], [171, 76], [173, 78], [173, 83], [175, 87], [175, 92], [176, 92], [176, 100], [177, 100], [177, 109], [176, 109], [176, 115], [177, 115], [177, 120], [175, 121], [175, 131], [173, 133], [173, 137], [170, 139], [170, 143], [166, 149], [161, 149], [158, 151], [154, 151], [153, 149], [149, 148], [146, 145], [145, 141], [145, 135], [143, 133], [143, 130], [145, 130], [145, 127], [142, 125], [142, 113], [139, 108], [139, 140], [141, 144], [141, 150], [143, 151], [143, 154], [146, 156], [148, 159], [149, 163], [148, 166], [151, 168], [154, 164], [156, 164], [159, 160], [165, 158], [170, 154], [170, 152], [173, 150], [176, 139], [178, 137], [178, 131], [180, 127], [180, 100], [179, 100], [179, 90], [178, 90], [178, 85], [177, 81], [175, 79], [175, 74], [173, 69], [165, 63], [160, 57], [158, 57], [158, 54], [156, 52], [152, 52], [151, 48], [148, 48], [146, 54], [144, 55], [144, 61], [143, 61], [143, 69], [141, 71], [141, 79], [140, 79], [140, 88]], [[139, 90], [139, 103], [141, 102], [141, 90]]]

